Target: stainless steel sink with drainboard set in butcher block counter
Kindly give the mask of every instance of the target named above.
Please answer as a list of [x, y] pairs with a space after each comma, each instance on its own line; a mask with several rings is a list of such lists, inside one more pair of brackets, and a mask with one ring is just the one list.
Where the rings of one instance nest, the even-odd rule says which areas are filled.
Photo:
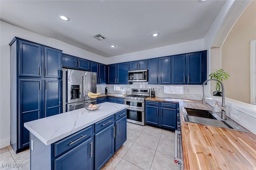
[[[216, 113], [211, 110], [182, 108], [184, 119], [188, 122], [199, 123], [202, 125], [210, 125], [215, 127], [222, 127], [236, 131], [248, 132], [244, 127], [227, 117], [226, 120], [221, 119], [221, 113]], [[219, 114], [219, 115], [218, 115]]]

